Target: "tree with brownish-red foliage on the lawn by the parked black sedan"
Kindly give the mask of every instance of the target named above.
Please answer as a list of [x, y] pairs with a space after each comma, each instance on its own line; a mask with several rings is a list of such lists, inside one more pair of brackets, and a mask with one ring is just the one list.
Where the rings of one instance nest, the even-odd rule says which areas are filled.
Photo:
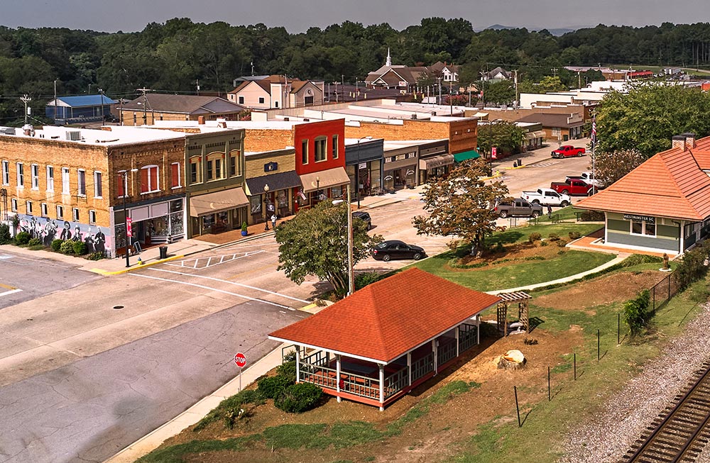
[[471, 255], [478, 255], [486, 236], [496, 230], [493, 203], [508, 196], [503, 182], [481, 180], [486, 172], [486, 161], [479, 158], [462, 162], [447, 178], [430, 181], [424, 193], [428, 215], [413, 219], [417, 234], [457, 236], [471, 244]]

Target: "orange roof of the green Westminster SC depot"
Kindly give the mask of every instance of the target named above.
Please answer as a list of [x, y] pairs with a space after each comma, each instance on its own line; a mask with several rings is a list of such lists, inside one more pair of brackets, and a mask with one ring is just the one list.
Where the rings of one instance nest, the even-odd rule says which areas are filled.
[[577, 207], [702, 221], [710, 216], [710, 137], [660, 152]]

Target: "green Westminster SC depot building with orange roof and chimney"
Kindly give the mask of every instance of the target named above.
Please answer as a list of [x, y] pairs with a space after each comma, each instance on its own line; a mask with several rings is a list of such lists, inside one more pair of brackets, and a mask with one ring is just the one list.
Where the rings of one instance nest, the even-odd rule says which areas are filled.
[[682, 254], [710, 231], [710, 137], [674, 136], [670, 150], [576, 207], [604, 213], [603, 245]]

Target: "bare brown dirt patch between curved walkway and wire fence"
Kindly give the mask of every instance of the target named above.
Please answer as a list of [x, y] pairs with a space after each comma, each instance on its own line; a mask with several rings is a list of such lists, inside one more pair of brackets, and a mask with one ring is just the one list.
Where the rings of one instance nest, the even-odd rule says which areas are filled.
[[554, 307], [579, 311], [617, 301], [626, 301], [638, 291], [648, 289], [667, 274], [656, 270], [623, 272], [599, 277], [584, 284], [574, 284], [567, 289], [544, 296], [535, 296], [533, 302], [540, 307]]

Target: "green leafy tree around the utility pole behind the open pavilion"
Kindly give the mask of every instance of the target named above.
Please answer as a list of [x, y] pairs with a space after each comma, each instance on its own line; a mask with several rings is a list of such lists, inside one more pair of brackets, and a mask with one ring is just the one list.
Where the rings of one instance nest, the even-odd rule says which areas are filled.
[[[337, 294], [348, 290], [348, 216], [346, 203], [322, 201], [276, 227], [278, 269], [296, 284], [315, 275], [333, 285]], [[379, 235], [369, 236], [364, 221], [353, 219], [353, 265], [364, 259]]]

